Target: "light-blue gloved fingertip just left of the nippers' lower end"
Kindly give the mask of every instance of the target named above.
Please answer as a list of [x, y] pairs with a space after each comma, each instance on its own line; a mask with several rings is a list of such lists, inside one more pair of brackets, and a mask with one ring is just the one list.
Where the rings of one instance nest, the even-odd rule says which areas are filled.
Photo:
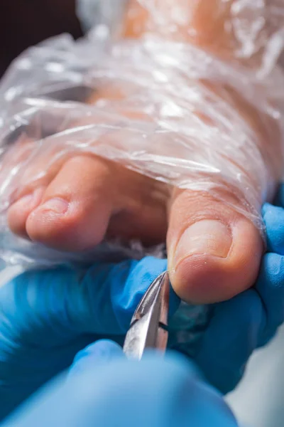
[[69, 376], [87, 372], [101, 363], [110, 363], [114, 359], [123, 358], [124, 352], [119, 344], [109, 339], [93, 342], [76, 354], [70, 367]]

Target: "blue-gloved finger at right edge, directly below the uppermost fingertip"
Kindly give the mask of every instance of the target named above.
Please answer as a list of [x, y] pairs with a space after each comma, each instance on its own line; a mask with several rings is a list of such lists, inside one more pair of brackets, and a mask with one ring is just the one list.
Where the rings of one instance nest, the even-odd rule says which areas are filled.
[[264, 307], [263, 328], [259, 346], [273, 337], [284, 322], [284, 256], [266, 253], [256, 282], [256, 290]]

